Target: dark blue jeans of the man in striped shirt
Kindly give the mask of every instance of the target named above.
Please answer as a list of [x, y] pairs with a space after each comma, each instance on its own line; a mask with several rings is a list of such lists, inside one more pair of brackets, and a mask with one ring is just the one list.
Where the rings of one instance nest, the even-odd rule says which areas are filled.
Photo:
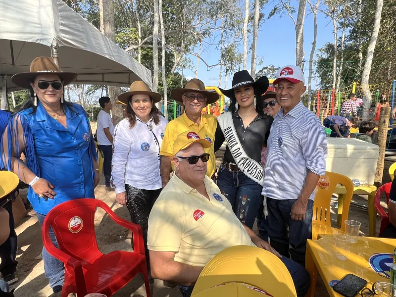
[[313, 201], [308, 200], [305, 220], [295, 221], [291, 219], [290, 213], [296, 200], [267, 198], [267, 230], [272, 247], [283, 256], [289, 258], [291, 255], [298, 264], [305, 266], [306, 241], [312, 237]]

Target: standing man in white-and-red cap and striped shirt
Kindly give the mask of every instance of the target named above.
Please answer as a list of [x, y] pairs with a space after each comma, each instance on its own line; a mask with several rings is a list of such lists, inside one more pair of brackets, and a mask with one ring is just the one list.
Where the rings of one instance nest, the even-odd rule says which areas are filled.
[[282, 67], [276, 74], [273, 84], [278, 85], [276, 99], [281, 109], [267, 142], [262, 191], [271, 246], [301, 265], [305, 264], [306, 240], [311, 238], [314, 190], [325, 174], [327, 156], [322, 123], [301, 102], [304, 83], [298, 66]]

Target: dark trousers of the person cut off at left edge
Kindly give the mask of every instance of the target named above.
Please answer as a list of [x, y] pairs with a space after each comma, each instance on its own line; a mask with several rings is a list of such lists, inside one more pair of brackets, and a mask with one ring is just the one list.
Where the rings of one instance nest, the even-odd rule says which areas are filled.
[[0, 246], [0, 272], [3, 276], [10, 275], [16, 272], [16, 265], [18, 262], [15, 260], [17, 250], [17, 238], [15, 233], [14, 216], [12, 214], [12, 202], [9, 201], [4, 205], [9, 215], [9, 236], [7, 240]]

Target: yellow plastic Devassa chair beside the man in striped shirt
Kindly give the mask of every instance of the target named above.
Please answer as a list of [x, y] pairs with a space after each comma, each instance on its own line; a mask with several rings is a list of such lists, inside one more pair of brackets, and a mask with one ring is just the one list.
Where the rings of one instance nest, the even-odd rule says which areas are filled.
[[[341, 228], [332, 228], [330, 220], [330, 202], [337, 184], [347, 189], [344, 201], [339, 199], [338, 207], [343, 208]], [[345, 233], [345, 220], [348, 219], [350, 200], [353, 196], [353, 183], [345, 175], [328, 172], [319, 178], [313, 202], [312, 239], [317, 240], [318, 234]]]

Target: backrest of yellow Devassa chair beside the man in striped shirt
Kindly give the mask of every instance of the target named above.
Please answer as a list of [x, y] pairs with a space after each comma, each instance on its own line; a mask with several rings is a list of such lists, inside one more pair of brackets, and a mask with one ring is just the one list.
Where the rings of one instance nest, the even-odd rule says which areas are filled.
[[321, 176], [318, 185], [315, 189], [315, 200], [313, 203], [313, 217], [312, 221], [331, 226], [330, 221], [330, 202], [334, 193], [334, 189], [338, 184], [343, 185], [347, 189], [347, 195], [343, 204], [343, 219], [341, 223], [341, 230], [345, 230], [344, 221], [348, 219], [350, 200], [353, 196], [353, 183], [345, 175], [335, 172], [326, 171], [324, 176]]

